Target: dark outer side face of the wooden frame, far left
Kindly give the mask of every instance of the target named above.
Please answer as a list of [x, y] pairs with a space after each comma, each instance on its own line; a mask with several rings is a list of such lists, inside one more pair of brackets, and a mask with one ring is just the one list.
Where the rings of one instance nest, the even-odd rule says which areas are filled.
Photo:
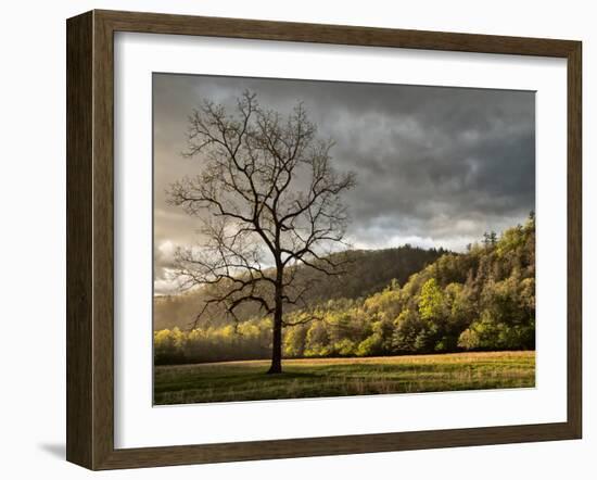
[[66, 458], [92, 464], [92, 14], [68, 21], [66, 47]]

